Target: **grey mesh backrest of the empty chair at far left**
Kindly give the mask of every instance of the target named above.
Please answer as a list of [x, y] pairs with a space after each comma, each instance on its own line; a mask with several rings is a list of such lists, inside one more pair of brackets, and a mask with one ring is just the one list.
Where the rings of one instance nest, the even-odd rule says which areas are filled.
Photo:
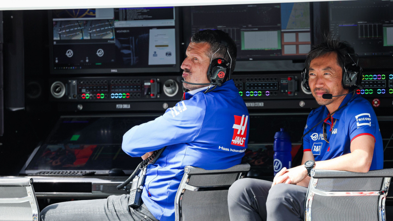
[[0, 220], [39, 221], [32, 178], [0, 177]]

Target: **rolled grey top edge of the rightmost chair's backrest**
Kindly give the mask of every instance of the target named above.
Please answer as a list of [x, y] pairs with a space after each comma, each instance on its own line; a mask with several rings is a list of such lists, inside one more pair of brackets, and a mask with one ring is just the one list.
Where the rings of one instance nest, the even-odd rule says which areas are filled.
[[393, 168], [370, 170], [367, 173], [329, 170], [329, 169], [311, 169], [311, 176], [315, 179], [323, 178], [360, 178], [360, 177], [393, 177]]

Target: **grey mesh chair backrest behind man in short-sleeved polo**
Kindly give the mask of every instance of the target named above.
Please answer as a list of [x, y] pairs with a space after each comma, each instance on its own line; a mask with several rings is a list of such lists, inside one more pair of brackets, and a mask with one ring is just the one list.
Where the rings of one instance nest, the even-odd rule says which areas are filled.
[[367, 173], [312, 169], [305, 221], [385, 221], [385, 199], [393, 169]]

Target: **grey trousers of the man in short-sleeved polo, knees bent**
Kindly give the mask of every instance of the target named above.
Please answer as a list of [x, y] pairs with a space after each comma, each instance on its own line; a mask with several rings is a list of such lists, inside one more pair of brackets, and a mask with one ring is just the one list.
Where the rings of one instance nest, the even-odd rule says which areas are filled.
[[229, 188], [231, 221], [301, 221], [307, 188], [294, 184], [276, 184], [244, 178]]

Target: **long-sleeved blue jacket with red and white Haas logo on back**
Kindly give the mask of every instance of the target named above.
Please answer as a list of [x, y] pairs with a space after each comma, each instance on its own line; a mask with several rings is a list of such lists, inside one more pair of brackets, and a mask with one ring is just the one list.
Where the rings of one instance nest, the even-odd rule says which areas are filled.
[[184, 167], [227, 169], [241, 163], [250, 118], [233, 80], [206, 94], [185, 93], [185, 100], [153, 121], [132, 127], [122, 149], [131, 157], [167, 146], [147, 167], [142, 200], [160, 221], [174, 220], [174, 200]]

